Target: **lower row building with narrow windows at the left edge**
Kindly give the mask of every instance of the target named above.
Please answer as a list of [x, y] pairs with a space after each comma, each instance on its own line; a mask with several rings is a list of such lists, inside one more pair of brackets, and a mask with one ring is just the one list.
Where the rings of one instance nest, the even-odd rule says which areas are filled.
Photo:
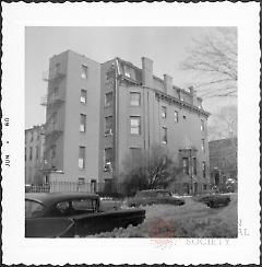
[[25, 130], [25, 184], [41, 184], [39, 172], [44, 159], [45, 128], [43, 125]]

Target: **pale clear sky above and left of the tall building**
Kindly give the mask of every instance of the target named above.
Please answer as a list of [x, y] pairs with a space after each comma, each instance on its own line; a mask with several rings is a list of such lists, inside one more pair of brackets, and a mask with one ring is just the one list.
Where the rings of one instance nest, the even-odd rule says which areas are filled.
[[[210, 31], [211, 28], [209, 28]], [[25, 28], [25, 127], [45, 123], [45, 107], [40, 98], [47, 93], [43, 72], [48, 60], [64, 50], [105, 62], [120, 57], [141, 67], [141, 58], [148, 57], [155, 76], [172, 77], [174, 85], [192, 85], [189, 73], [181, 70], [193, 38], [206, 27], [55, 27]], [[229, 100], [203, 100], [207, 112], [215, 113]], [[230, 101], [229, 101], [230, 102]]]

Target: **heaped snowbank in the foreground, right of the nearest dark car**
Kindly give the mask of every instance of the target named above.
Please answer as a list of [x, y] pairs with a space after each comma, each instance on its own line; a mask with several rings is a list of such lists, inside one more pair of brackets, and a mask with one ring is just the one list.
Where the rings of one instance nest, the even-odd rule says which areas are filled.
[[192, 198], [183, 206], [153, 205], [144, 222], [88, 237], [237, 237], [237, 194], [225, 208], [212, 209]]

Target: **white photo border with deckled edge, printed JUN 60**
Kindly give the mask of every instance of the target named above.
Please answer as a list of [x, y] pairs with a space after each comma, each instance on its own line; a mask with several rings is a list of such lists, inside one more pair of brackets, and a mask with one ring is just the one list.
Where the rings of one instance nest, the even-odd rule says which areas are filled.
[[[259, 264], [260, 35], [257, 2], [2, 3], [2, 251], [4, 264]], [[25, 239], [25, 26], [237, 26], [238, 217], [249, 230], [228, 244], [162, 249], [150, 239]], [[9, 118], [9, 126], [4, 126]], [[7, 143], [9, 142], [9, 143]], [[5, 165], [10, 155], [11, 166]], [[218, 242], [218, 240], [215, 240]]]

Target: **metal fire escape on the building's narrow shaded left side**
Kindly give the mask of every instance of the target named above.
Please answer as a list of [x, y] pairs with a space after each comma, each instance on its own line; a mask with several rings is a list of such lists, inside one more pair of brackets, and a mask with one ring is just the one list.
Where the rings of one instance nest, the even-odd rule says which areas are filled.
[[39, 164], [39, 171], [44, 174], [57, 170], [52, 150], [56, 149], [57, 139], [63, 132], [58, 114], [64, 103], [64, 92], [59, 86], [64, 77], [66, 72], [60, 70], [59, 65], [43, 74], [43, 80], [48, 82], [48, 94], [43, 96], [40, 101], [40, 105], [46, 107], [44, 160]]

